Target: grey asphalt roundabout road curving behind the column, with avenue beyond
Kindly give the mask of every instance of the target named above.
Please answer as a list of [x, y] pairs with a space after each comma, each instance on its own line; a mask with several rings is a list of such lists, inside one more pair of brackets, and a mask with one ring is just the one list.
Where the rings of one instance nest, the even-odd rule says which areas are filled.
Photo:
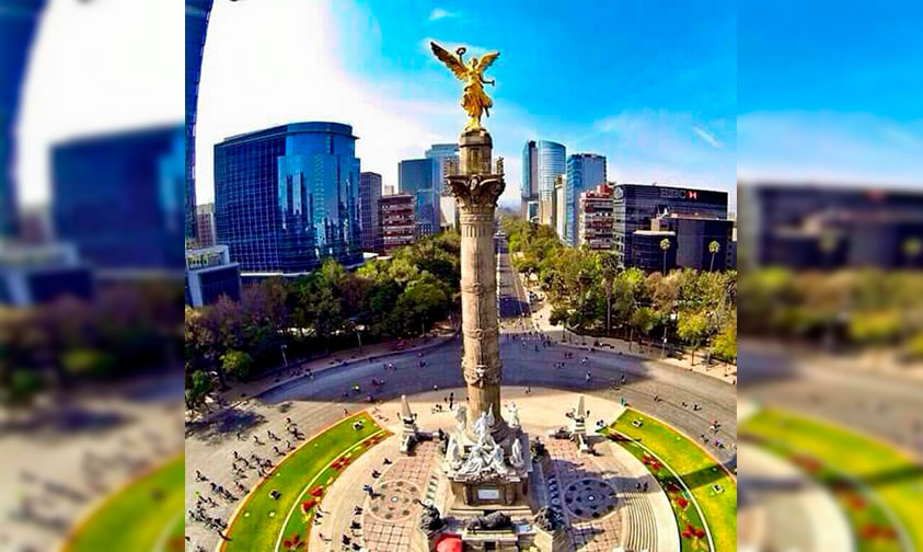
[[[720, 424], [717, 438], [725, 447], [716, 448], [712, 441], [708, 448], [726, 465], [736, 468], [736, 388], [658, 361], [565, 346], [557, 343], [559, 335], [553, 337], [552, 345], [542, 346], [535, 335], [523, 333], [524, 324], [509, 323], [509, 319], [522, 320], [521, 314], [527, 315], [524, 322], [528, 322], [529, 310], [524, 290], [511, 272], [505, 248], [499, 253], [498, 302], [503, 317], [508, 319], [500, 335], [504, 384], [570, 390], [607, 398], [613, 404], [624, 398], [630, 405], [672, 424], [693, 438], [709, 434], [708, 426], [717, 421]], [[574, 358], [565, 359], [565, 353], [573, 353]], [[581, 363], [585, 356], [586, 364]], [[557, 368], [562, 361], [564, 367]], [[385, 363], [393, 364], [394, 369], [385, 369]], [[351, 413], [367, 407], [369, 394], [374, 401], [390, 400], [401, 394], [432, 391], [435, 387], [446, 394], [454, 392], [455, 399], [462, 400], [460, 366], [461, 343], [455, 338], [423, 353], [396, 353], [372, 363], [354, 361], [320, 371], [314, 379], [291, 380], [223, 412], [207, 424], [187, 425], [187, 509], [195, 502], [196, 491], [209, 492], [207, 483], [195, 481], [195, 470], [201, 470], [208, 478], [230, 487], [233, 451], [244, 457], [255, 451], [264, 458], [277, 458], [272, 450], [274, 444], [267, 441], [266, 430], [285, 435], [285, 417], [291, 417], [303, 436], [310, 438], [341, 419], [344, 409]], [[587, 372], [591, 376], [589, 380]], [[373, 379], [384, 383], [376, 387]], [[618, 389], [612, 389], [613, 382], [619, 383]], [[353, 391], [356, 384], [358, 392]], [[656, 402], [655, 396], [659, 396]], [[693, 410], [693, 405], [699, 409]], [[565, 412], [574, 406], [561, 404], [558, 412], [549, 412], [547, 416], [566, 425]], [[591, 412], [590, 418], [609, 419], [611, 416]], [[256, 444], [253, 436], [258, 436], [263, 444]], [[285, 440], [287, 438], [278, 446], [285, 448]], [[251, 475], [244, 485], [253, 483]], [[209, 515], [230, 521], [235, 506], [234, 502], [222, 501], [219, 506], [209, 508]], [[187, 522], [186, 534], [193, 547], [200, 544], [207, 550], [212, 550], [219, 541], [217, 533], [198, 522]]]

